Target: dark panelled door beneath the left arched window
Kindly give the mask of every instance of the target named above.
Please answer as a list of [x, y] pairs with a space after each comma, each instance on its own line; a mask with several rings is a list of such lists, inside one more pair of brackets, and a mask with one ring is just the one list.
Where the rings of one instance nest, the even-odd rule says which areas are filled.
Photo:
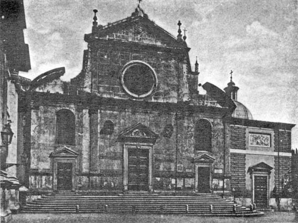
[[72, 190], [72, 175], [73, 164], [66, 162], [57, 163], [57, 189], [59, 191], [71, 191]]

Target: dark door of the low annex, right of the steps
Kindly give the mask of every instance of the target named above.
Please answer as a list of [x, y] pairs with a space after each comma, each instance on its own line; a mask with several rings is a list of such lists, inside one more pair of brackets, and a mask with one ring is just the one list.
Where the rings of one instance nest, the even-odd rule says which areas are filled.
[[267, 194], [267, 176], [254, 176], [254, 201], [257, 207], [268, 207]]

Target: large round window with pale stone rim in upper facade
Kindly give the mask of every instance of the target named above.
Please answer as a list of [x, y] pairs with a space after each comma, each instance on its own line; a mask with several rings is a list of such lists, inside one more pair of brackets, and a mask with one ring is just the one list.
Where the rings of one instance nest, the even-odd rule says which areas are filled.
[[124, 90], [133, 97], [149, 96], [157, 85], [156, 74], [149, 64], [131, 61], [124, 66], [121, 83]]

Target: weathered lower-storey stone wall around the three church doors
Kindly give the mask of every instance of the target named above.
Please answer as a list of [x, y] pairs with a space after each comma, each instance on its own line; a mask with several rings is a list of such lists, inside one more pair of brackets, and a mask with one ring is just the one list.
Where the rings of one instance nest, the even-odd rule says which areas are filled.
[[[123, 143], [117, 142], [117, 138], [126, 127], [138, 122], [158, 134], [152, 157], [154, 190], [175, 188], [176, 185], [172, 182], [176, 177], [182, 182], [178, 186], [179, 189], [194, 190], [194, 158], [202, 154], [202, 151], [194, 150], [194, 126], [202, 118], [210, 121], [212, 125], [212, 150], [208, 154], [216, 158], [214, 169], [224, 168], [224, 124], [219, 114], [184, 112], [183, 116], [176, 118], [175, 112], [170, 111], [170, 108], [159, 107], [160, 105], [144, 109], [137, 106], [127, 105], [125, 108], [125, 106], [111, 107], [111, 105], [101, 106], [100, 104], [99, 108], [90, 114], [90, 109], [86, 105], [64, 102], [63, 104], [50, 103], [51, 105], [45, 106], [43, 101], [49, 99], [46, 94], [38, 94], [38, 96], [36, 94], [36, 98], [38, 100], [31, 101], [29, 188], [32, 190], [51, 191], [53, 189], [52, 161], [49, 155], [63, 146], [79, 154], [75, 164], [75, 190], [122, 190]], [[75, 145], [56, 144], [56, 113], [62, 109], [68, 109], [74, 113]], [[114, 125], [113, 133], [109, 135], [100, 133], [106, 120], [112, 121]], [[162, 136], [162, 131], [167, 124], [174, 126], [171, 137]], [[181, 172], [177, 173], [176, 160], [177, 165], [182, 165]], [[222, 179], [222, 175], [222, 171], [217, 173], [215, 181]]]

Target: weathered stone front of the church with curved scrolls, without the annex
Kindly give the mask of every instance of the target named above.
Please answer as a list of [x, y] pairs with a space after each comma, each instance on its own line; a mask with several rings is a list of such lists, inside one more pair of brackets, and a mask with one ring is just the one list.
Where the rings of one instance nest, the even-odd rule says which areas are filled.
[[[130, 190], [131, 175], [142, 171], [139, 163], [146, 149], [145, 190], [200, 192], [198, 172], [207, 168], [207, 191], [223, 191], [223, 185], [229, 191], [230, 130], [223, 117], [230, 115], [234, 104], [210, 83], [204, 85], [207, 95], [198, 94], [198, 68], [191, 71], [186, 42], [147, 16], [135, 15], [107, 26], [95, 20], [84, 39], [88, 48], [82, 71], [71, 83], [59, 79], [65, 70], [57, 68], [34, 79], [22, 95], [19, 152], [27, 157], [22, 182], [30, 193], [59, 190], [62, 161], [73, 165], [70, 190]], [[124, 83], [127, 67], [137, 65], [149, 69], [149, 82], [154, 79], [148, 94], [131, 94]], [[74, 125], [68, 126], [74, 130], [71, 144], [57, 141], [61, 132], [57, 115], [62, 110], [74, 116]], [[206, 139], [199, 137], [202, 120], [210, 126]], [[131, 128], [136, 129], [125, 133]], [[139, 172], [130, 170], [135, 162], [132, 151], [140, 158]]]

